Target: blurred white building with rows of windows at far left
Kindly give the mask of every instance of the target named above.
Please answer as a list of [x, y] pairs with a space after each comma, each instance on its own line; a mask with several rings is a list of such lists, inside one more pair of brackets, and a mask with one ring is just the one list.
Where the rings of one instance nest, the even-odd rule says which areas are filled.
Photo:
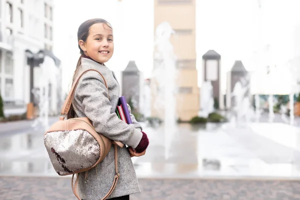
[[[0, 90], [4, 113], [19, 114], [26, 111], [30, 96], [25, 49], [34, 53], [40, 49], [52, 50], [53, 0], [2, 0], [0, 8]], [[59, 73], [61, 69], [53, 70]], [[34, 67], [35, 89], [39, 74], [39, 67]], [[57, 89], [50, 88], [51, 100], [57, 102]], [[52, 104], [50, 109], [56, 112], [57, 104]]]

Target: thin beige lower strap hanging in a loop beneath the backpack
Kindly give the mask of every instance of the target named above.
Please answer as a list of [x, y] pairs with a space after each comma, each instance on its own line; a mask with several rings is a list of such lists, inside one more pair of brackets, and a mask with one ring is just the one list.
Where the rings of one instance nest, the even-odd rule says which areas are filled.
[[[105, 200], [112, 193], [112, 191], [114, 190], [115, 185], [117, 183], [117, 180], [120, 177], [120, 174], [119, 174], [119, 172], [117, 170], [117, 146], [116, 145], [114, 145], [114, 169], [115, 169], [115, 176], [113, 178], [113, 182], [111, 184], [111, 187], [108, 190], [108, 192], [101, 198], [101, 200]], [[79, 175], [77, 174], [77, 177], [76, 177], [76, 180], [75, 180], [75, 185], [73, 184], [74, 175], [75, 174], [72, 175], [72, 179], [71, 179], [72, 190], [73, 190], [73, 193], [76, 196], [76, 198], [78, 200], [81, 200], [81, 198], [79, 197], [78, 192], [77, 192], [78, 176]]]

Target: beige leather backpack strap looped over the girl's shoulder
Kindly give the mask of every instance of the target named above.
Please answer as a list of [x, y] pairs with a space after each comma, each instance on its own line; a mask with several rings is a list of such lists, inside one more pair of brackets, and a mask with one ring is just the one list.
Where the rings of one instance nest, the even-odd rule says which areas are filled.
[[74, 97], [75, 89], [76, 89], [77, 84], [79, 82], [79, 79], [87, 71], [96, 71], [102, 76], [102, 78], [104, 80], [105, 87], [107, 89], [108, 98], [109, 98], [109, 91], [108, 91], [107, 83], [106, 83], [106, 80], [105, 80], [104, 76], [100, 73], [100, 71], [98, 71], [96, 69], [86, 69], [86, 70], [82, 71], [82, 73], [80, 75], [78, 75], [77, 78], [74, 80], [74, 82], [72, 84], [72, 87], [71, 87], [71, 90], [69, 91], [69, 93], [68, 93], [68, 95], [67, 95], [67, 97], [66, 97], [66, 99], [65, 99], [65, 101], [62, 105], [62, 108], [61, 108], [61, 111], [60, 111], [60, 116], [59, 116], [60, 120], [63, 120], [65, 118], [67, 112], [69, 111], [69, 109], [71, 107], [71, 104], [72, 104], [73, 97]]

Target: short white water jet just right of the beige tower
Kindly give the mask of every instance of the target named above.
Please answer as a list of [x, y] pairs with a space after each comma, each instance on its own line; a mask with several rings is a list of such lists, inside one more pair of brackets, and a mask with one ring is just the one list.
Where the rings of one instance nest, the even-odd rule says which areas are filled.
[[213, 94], [212, 94], [212, 84], [210, 81], [205, 81], [201, 85], [200, 90], [200, 112], [199, 116], [207, 117], [209, 113], [213, 112]]

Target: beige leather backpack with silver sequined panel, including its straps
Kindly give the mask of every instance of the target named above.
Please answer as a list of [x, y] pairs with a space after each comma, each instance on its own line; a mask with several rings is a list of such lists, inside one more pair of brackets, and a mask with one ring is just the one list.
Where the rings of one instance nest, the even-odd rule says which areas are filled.
[[75, 183], [73, 184], [74, 174], [79, 172], [85, 172], [87, 174], [89, 169], [96, 167], [97, 164], [106, 157], [111, 145], [114, 145], [115, 176], [111, 188], [106, 195], [101, 198], [102, 200], [106, 199], [111, 194], [120, 176], [117, 171], [117, 146], [122, 147], [123, 143], [119, 141], [112, 141], [104, 135], [96, 132], [87, 117], [65, 119], [66, 114], [70, 109], [78, 81], [80, 77], [89, 70], [97, 71], [102, 76], [107, 88], [106, 81], [98, 70], [84, 70], [73, 82], [71, 90], [69, 91], [61, 108], [59, 120], [54, 122], [45, 132], [43, 139], [50, 161], [57, 174], [73, 174], [71, 186], [74, 195], [79, 200], [81, 200], [81, 198], [77, 193], [78, 175]]

